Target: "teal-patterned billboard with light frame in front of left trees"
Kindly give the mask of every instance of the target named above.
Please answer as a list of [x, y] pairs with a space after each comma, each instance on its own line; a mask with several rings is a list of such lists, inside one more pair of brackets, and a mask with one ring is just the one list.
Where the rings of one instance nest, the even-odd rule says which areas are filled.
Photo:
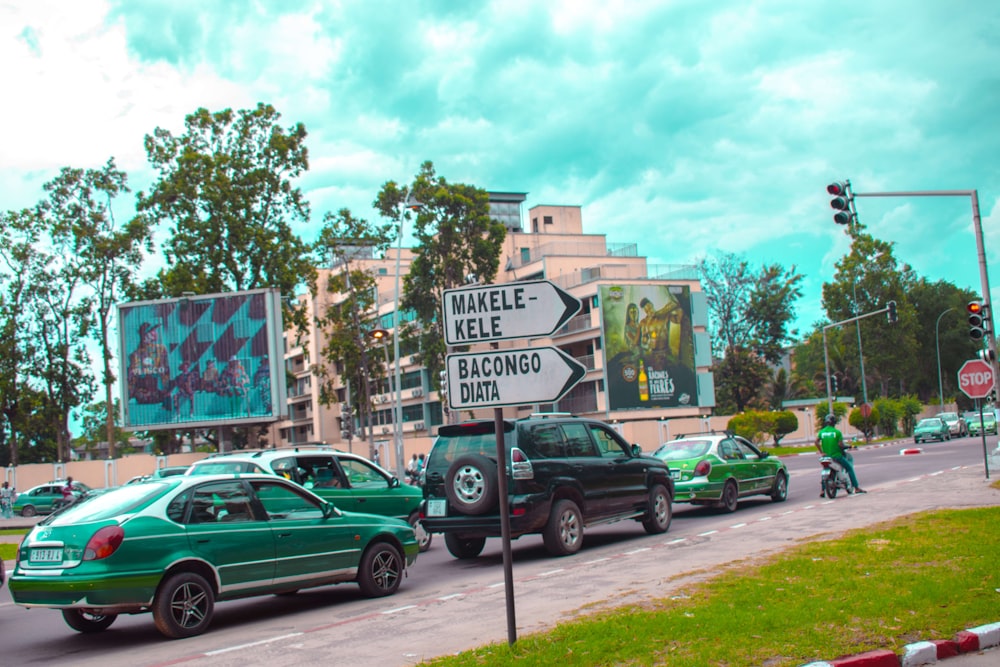
[[276, 289], [118, 305], [126, 429], [274, 421], [286, 403]]

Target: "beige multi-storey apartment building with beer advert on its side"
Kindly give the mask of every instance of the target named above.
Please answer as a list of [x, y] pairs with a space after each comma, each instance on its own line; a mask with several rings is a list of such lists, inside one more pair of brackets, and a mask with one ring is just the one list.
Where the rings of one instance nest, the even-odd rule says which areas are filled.
[[[527, 212], [525, 225], [525, 199], [524, 193], [490, 193], [491, 215], [508, 229], [496, 282], [549, 280], [579, 299], [582, 307], [551, 336], [505, 341], [499, 347], [555, 346], [580, 361], [587, 374], [556, 403], [505, 408], [505, 416], [571, 412], [620, 424], [627, 436], [647, 440], [659, 437], [659, 425], [668, 418], [707, 417], [715, 403], [714, 385], [705, 328], [707, 305], [696, 267], [649, 265], [634, 243], [609, 244], [604, 234], [585, 234], [579, 206], [534, 206]], [[402, 249], [397, 257], [397, 249], [392, 248], [384, 257], [359, 249], [353, 260], [375, 276], [379, 325], [390, 332], [396, 286], [402, 284], [412, 259], [408, 249]], [[321, 268], [320, 280], [337, 270]], [[300, 301], [311, 313], [318, 313], [336, 298], [321, 290], [317, 297], [302, 296]], [[405, 321], [406, 315], [400, 315]], [[651, 329], [649, 322], [659, 322], [660, 328]], [[359, 388], [345, 384], [337, 389], [335, 402], [320, 402], [314, 364], [323, 344], [323, 332], [315, 327], [304, 340], [286, 332], [285, 363], [294, 382], [288, 386], [288, 419], [276, 425], [276, 444], [322, 441], [367, 453], [369, 444], [360, 442], [359, 437], [367, 435], [368, 425], [355, 423], [347, 428], [340, 406], [352, 389]], [[391, 344], [383, 345], [373, 341], [369, 350], [384, 355], [390, 369], [387, 377], [372, 378], [370, 441], [375, 442], [380, 461], [395, 469], [394, 361]], [[406, 457], [427, 451], [436, 427], [449, 419], [493, 416], [493, 409], [449, 413], [438, 392], [432, 391], [437, 383], [418, 363], [418, 352], [401, 342], [401, 423]], [[348, 431], [350, 440], [345, 438]]]

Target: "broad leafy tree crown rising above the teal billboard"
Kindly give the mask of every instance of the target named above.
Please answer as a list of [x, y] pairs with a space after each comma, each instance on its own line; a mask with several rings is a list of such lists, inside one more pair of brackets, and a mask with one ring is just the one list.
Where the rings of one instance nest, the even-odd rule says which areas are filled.
[[185, 133], [157, 128], [145, 140], [159, 172], [137, 209], [150, 225], [173, 224], [159, 273], [165, 295], [311, 284], [307, 244], [292, 231], [309, 219], [293, 179], [309, 168], [306, 130], [278, 125], [274, 107], [187, 116]]

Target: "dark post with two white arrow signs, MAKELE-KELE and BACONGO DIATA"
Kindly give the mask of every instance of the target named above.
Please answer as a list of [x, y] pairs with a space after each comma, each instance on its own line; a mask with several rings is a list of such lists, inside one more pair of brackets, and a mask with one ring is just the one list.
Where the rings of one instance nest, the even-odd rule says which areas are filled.
[[[445, 290], [446, 345], [473, 345], [515, 338], [548, 336], [566, 324], [580, 300], [547, 280], [475, 285]], [[445, 357], [448, 407], [492, 407], [497, 438], [497, 479], [507, 479], [503, 438], [505, 405], [558, 401], [587, 369], [555, 347], [491, 350]], [[514, 572], [510, 552], [507, 484], [499, 483], [500, 539], [503, 543], [504, 590], [507, 594], [507, 643], [517, 641], [514, 622]]]

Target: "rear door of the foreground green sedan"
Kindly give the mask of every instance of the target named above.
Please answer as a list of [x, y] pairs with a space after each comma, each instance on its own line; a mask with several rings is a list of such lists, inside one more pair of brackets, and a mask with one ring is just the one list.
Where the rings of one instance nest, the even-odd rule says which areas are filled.
[[187, 531], [193, 554], [211, 565], [222, 597], [265, 591], [274, 579], [275, 545], [238, 479], [207, 482], [174, 499], [168, 515]]

